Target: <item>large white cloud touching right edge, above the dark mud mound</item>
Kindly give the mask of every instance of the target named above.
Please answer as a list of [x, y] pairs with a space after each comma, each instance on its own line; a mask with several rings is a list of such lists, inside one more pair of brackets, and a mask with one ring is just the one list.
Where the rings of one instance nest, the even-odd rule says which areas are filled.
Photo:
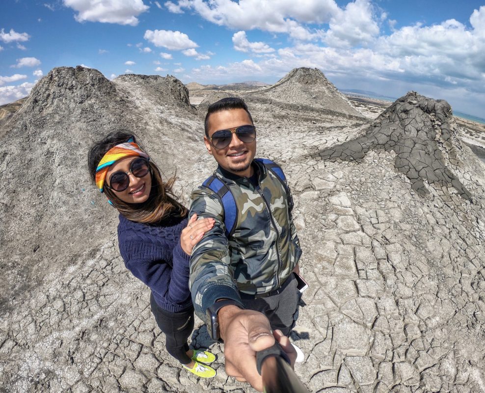
[[483, 91], [479, 87], [485, 84], [485, 24], [481, 20], [485, 22], [485, 6], [471, 15], [471, 29], [454, 19], [432, 26], [405, 26], [380, 37], [373, 51], [399, 62], [409, 81], [421, 79], [436, 85], [444, 81]]

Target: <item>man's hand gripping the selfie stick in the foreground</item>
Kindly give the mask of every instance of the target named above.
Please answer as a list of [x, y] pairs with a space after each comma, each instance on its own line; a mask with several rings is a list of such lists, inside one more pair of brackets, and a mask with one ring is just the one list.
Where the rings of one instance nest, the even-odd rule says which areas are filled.
[[275, 339], [288, 354], [292, 367], [295, 365], [296, 352], [290, 340], [279, 330], [271, 332], [269, 320], [261, 312], [225, 306], [219, 310], [218, 319], [227, 375], [240, 382], [249, 382], [262, 392], [263, 380], [256, 369], [256, 352], [269, 348]]

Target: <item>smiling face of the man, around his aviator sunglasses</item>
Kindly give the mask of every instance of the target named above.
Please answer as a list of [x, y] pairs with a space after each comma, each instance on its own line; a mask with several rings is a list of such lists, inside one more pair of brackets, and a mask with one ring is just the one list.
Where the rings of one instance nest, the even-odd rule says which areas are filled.
[[237, 137], [236, 133], [233, 133], [231, 142], [223, 149], [216, 149], [210, 140], [216, 131], [243, 125], [252, 125], [249, 115], [243, 109], [229, 109], [211, 113], [209, 116], [209, 138], [204, 137], [204, 143], [209, 154], [214, 156], [222, 168], [238, 176], [249, 177], [251, 175], [251, 162], [256, 154], [256, 140], [244, 143]]

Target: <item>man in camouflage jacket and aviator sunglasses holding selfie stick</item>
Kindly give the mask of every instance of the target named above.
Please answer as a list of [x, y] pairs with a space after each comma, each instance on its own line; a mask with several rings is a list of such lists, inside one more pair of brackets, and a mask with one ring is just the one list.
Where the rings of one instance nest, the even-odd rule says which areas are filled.
[[[301, 250], [292, 199], [286, 180], [268, 162], [254, 160], [256, 130], [242, 99], [212, 104], [205, 134], [206, 148], [218, 167], [214, 177], [192, 193], [190, 215], [212, 217], [216, 223], [192, 251], [192, 301], [212, 338], [224, 340], [227, 374], [262, 390], [255, 352], [271, 346], [275, 337], [294, 356], [286, 336], [297, 309], [292, 272], [297, 271]], [[229, 211], [231, 202], [234, 211]], [[234, 226], [229, 228], [228, 216], [233, 214]]]

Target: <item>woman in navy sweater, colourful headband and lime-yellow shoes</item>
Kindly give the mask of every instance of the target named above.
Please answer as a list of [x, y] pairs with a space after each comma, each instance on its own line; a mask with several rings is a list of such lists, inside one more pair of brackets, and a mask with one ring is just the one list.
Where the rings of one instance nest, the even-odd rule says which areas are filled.
[[175, 178], [163, 183], [159, 168], [130, 133], [113, 132], [94, 143], [88, 165], [98, 189], [120, 213], [121, 256], [151, 289], [151, 309], [165, 333], [168, 353], [199, 377], [215, 376], [205, 363], [216, 357], [187, 344], [194, 326], [190, 254], [214, 220], [187, 219], [187, 209], [172, 194]]

